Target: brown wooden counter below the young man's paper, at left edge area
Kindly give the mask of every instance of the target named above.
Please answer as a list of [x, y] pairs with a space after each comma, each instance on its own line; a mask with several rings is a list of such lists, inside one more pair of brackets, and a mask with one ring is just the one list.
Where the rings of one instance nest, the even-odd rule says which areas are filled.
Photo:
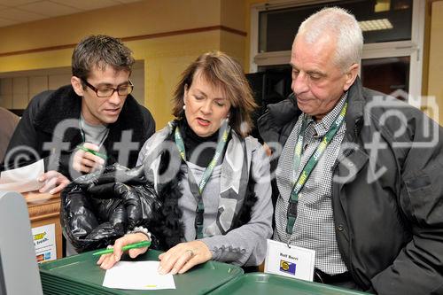
[[55, 225], [57, 259], [62, 258], [62, 233], [60, 226], [60, 195], [31, 191], [22, 193], [27, 201], [27, 211], [31, 220], [31, 228], [43, 225]]

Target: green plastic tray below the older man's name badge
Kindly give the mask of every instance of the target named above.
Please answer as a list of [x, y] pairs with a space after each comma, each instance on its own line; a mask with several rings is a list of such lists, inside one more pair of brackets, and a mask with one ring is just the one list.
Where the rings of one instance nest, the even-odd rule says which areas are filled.
[[221, 285], [212, 295], [357, 295], [368, 294], [285, 276], [249, 273]]

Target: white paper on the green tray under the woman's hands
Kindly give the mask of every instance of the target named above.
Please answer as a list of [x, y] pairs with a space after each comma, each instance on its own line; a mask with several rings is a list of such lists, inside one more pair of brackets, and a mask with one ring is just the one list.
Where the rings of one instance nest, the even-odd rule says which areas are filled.
[[106, 270], [103, 286], [127, 290], [175, 289], [174, 277], [159, 275], [159, 261], [120, 261]]

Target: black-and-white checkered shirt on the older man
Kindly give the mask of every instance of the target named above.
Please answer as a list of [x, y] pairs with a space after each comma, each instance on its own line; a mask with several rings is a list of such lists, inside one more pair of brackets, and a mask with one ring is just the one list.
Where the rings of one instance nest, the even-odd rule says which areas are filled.
[[331, 202], [332, 169], [338, 157], [340, 144], [345, 136], [345, 122], [331, 140], [305, 186], [299, 192], [297, 220], [295, 221], [291, 236], [286, 233], [286, 215], [289, 198], [291, 198], [292, 183], [298, 179], [307, 160], [315, 152], [323, 136], [328, 132], [342, 106], [345, 104], [346, 97], [347, 92], [341, 97], [332, 111], [318, 122], [307, 116], [309, 123], [305, 133], [299, 171], [293, 171], [294, 149], [303, 120], [303, 115], [299, 116], [299, 120], [292, 129], [291, 135], [286, 144], [284, 144], [284, 149], [276, 168], [276, 182], [280, 196], [276, 202], [274, 239], [284, 243], [287, 243], [288, 239], [290, 239], [291, 245], [315, 250], [315, 268], [320, 268], [323, 272], [330, 275], [337, 275], [347, 271], [341, 254], [338, 252]]

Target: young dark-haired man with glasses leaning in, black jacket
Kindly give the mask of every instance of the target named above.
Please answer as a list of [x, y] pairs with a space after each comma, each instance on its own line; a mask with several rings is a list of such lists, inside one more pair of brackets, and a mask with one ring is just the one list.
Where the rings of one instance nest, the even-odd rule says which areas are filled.
[[130, 95], [133, 65], [131, 50], [118, 39], [90, 35], [78, 43], [71, 85], [32, 99], [6, 151], [4, 169], [44, 159], [41, 191], [56, 193], [69, 180], [105, 165], [134, 167], [155, 122]]

